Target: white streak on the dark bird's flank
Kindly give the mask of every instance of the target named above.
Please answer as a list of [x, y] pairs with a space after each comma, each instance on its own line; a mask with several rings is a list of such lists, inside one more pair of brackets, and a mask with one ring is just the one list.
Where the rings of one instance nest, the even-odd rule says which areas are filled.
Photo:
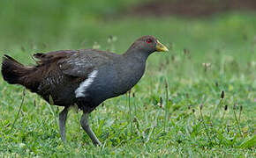
[[87, 88], [94, 82], [94, 78], [97, 76], [98, 70], [94, 70], [88, 75], [88, 78], [83, 83], [80, 83], [79, 88], [75, 91], [76, 97], [85, 97]]

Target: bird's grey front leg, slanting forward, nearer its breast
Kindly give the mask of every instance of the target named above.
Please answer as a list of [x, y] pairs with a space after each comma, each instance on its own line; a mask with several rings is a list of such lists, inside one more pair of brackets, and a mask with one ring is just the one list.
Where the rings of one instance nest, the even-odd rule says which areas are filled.
[[80, 124], [83, 127], [83, 129], [87, 132], [90, 139], [93, 140], [95, 146], [102, 146], [102, 143], [97, 139], [96, 135], [94, 134], [93, 130], [89, 126], [89, 120], [88, 120], [89, 114], [84, 112]]

